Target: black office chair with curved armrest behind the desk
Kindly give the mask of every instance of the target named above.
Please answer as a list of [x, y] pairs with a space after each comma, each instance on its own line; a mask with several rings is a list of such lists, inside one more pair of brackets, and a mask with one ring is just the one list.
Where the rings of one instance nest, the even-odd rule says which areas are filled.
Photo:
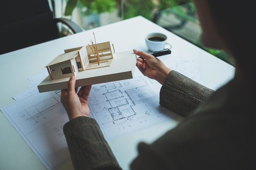
[[0, 2], [0, 54], [60, 38], [58, 23], [72, 33], [83, 31], [66, 18], [54, 18], [48, 0]]

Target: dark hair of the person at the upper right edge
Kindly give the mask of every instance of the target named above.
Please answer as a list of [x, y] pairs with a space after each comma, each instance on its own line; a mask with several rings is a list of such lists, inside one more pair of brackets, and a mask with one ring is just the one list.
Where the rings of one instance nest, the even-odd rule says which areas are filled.
[[243, 81], [252, 90], [255, 86], [252, 79], [255, 77], [253, 60], [255, 60], [254, 49], [256, 49], [253, 1], [207, 1], [216, 29], [225, 43], [225, 49], [234, 57], [236, 66], [240, 67], [243, 74]]

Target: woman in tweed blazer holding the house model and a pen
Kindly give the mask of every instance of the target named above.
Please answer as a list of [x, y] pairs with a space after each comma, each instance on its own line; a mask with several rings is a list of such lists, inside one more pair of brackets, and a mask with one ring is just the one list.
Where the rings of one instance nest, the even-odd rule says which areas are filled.
[[[152, 144], [140, 143], [132, 170], [254, 169], [256, 152], [254, 6], [250, 1], [193, 0], [204, 46], [234, 57], [234, 79], [216, 92], [134, 50], [136, 66], [162, 88], [160, 104], [187, 117]], [[249, 21], [249, 22], [247, 22]], [[218, 68], [216, 68], [218, 69]], [[225, 73], [223, 73], [225, 74]], [[91, 86], [75, 91], [70, 77], [61, 102], [70, 121], [63, 128], [74, 168], [121, 169], [97, 122], [88, 117]]]

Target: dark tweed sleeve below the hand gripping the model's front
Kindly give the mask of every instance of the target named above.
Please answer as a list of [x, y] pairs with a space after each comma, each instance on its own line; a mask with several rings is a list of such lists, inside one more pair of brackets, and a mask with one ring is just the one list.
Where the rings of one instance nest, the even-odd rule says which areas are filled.
[[76, 117], [63, 132], [75, 170], [121, 170], [95, 119]]

